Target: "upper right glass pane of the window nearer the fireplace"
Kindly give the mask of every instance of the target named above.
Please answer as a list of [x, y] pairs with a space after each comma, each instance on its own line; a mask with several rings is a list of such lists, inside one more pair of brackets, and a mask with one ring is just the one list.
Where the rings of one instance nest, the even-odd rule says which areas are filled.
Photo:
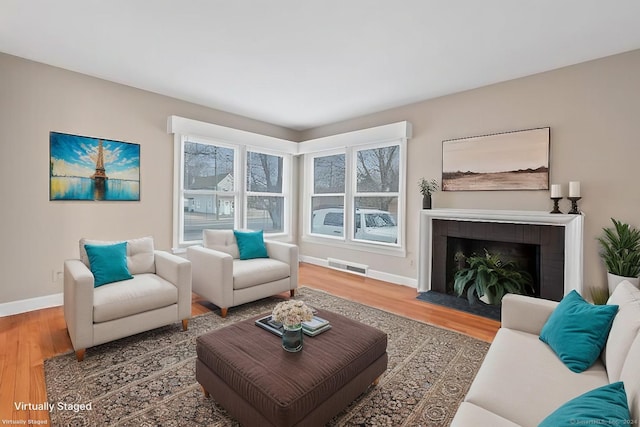
[[397, 192], [400, 181], [399, 153], [399, 145], [358, 151], [358, 192]]

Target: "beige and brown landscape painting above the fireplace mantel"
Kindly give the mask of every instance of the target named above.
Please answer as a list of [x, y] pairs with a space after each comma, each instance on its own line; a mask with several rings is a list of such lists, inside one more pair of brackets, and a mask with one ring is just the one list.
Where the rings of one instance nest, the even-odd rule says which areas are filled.
[[548, 190], [550, 128], [442, 142], [442, 190]]

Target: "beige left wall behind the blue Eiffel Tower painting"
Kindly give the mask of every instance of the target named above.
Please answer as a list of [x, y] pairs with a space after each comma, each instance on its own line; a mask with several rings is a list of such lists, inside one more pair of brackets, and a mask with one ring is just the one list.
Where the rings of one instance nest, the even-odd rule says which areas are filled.
[[[278, 138], [298, 132], [0, 53], [0, 304], [62, 292], [52, 271], [78, 239], [151, 235], [172, 245], [173, 135], [179, 115]], [[49, 132], [140, 144], [140, 202], [49, 201]]]

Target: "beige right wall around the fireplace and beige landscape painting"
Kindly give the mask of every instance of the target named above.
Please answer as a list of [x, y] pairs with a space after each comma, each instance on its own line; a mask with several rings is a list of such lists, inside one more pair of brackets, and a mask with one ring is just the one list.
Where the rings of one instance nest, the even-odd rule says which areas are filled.
[[[472, 64], [471, 64], [472, 66]], [[499, 66], [499, 65], [497, 65]], [[416, 278], [420, 177], [442, 173], [442, 141], [551, 127], [551, 183], [581, 181], [585, 213], [585, 286], [605, 287], [595, 238], [610, 217], [640, 226], [640, 50], [395, 108], [306, 131], [302, 140], [407, 120], [408, 256], [398, 259], [301, 243], [301, 253], [369, 264]], [[548, 191], [440, 192], [434, 207], [551, 210]], [[561, 210], [569, 210], [568, 200]]]

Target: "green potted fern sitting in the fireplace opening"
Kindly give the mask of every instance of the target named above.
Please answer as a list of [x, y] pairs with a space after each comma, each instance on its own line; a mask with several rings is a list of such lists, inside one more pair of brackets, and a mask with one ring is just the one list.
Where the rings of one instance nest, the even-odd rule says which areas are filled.
[[500, 305], [508, 293], [534, 294], [533, 278], [513, 261], [503, 262], [498, 255], [485, 249], [484, 256], [467, 258], [468, 267], [458, 270], [453, 289], [458, 296], [465, 295], [470, 304], [478, 299], [488, 304]]

